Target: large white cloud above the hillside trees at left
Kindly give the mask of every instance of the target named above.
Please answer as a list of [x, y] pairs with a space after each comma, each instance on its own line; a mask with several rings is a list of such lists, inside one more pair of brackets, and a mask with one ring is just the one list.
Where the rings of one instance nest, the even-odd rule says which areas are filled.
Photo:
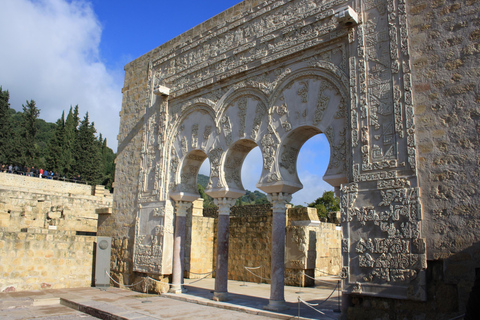
[[4, 0], [0, 10], [0, 85], [11, 107], [33, 99], [54, 122], [79, 105], [116, 150], [122, 76], [101, 62], [102, 28], [85, 1]]

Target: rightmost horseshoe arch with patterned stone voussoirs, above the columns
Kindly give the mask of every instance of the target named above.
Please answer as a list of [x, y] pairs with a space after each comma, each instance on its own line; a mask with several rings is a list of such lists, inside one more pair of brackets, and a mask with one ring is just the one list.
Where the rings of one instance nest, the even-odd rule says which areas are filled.
[[279, 137], [273, 166], [277, 171], [264, 172], [259, 188], [301, 189], [296, 170], [298, 153], [306, 140], [321, 132], [327, 136], [331, 148], [324, 180], [334, 187], [347, 182], [348, 95], [343, 82], [333, 77], [330, 69], [308, 68], [292, 73], [279, 84], [269, 112], [271, 130]]

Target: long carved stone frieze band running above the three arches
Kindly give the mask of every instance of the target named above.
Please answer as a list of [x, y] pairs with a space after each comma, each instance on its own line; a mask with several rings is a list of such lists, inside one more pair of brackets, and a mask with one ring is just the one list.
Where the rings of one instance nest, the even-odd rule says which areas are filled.
[[[271, 2], [271, 3], [270, 3]], [[333, 8], [345, 0], [266, 1], [248, 15], [248, 23], [213, 28], [207, 34], [165, 51], [153, 68], [173, 96], [231, 77], [253, 61], [268, 63], [325, 41], [346, 36], [337, 28]], [[269, 14], [264, 15], [268, 8]], [[301, 12], [301, 13], [299, 13]], [[302, 20], [301, 24], [296, 22]]]

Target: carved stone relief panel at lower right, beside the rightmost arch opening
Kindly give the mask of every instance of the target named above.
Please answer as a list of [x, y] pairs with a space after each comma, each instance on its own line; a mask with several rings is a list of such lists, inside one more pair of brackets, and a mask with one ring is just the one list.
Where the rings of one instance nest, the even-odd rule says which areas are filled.
[[[421, 237], [419, 188], [406, 178], [377, 182], [377, 190], [342, 187], [346, 292], [399, 299], [426, 299], [426, 252]], [[360, 206], [362, 204], [362, 206]], [[368, 232], [367, 232], [368, 230]], [[347, 241], [347, 240], [346, 240]], [[348, 248], [345, 246], [348, 245]]]

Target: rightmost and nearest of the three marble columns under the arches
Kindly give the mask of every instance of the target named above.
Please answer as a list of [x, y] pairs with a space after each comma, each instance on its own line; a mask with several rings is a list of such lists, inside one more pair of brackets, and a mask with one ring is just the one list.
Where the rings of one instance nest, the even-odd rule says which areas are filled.
[[272, 222], [272, 272], [270, 300], [265, 309], [281, 311], [288, 309], [285, 303], [285, 226], [286, 208], [292, 195], [289, 193], [271, 193], [267, 195], [273, 205]]

